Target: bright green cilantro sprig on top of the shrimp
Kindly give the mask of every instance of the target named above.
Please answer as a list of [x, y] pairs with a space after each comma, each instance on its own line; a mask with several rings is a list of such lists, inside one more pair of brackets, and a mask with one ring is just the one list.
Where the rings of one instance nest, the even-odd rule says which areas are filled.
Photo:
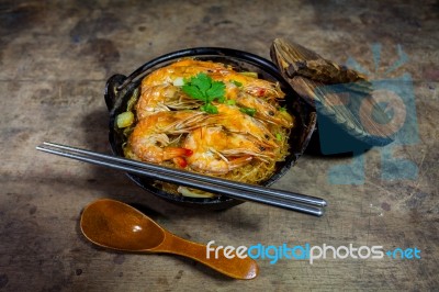
[[209, 75], [201, 72], [189, 80], [184, 80], [182, 90], [189, 97], [204, 101], [204, 104], [200, 108], [202, 111], [218, 113], [218, 109], [212, 102], [214, 100], [224, 102], [225, 88], [224, 82], [213, 81]]

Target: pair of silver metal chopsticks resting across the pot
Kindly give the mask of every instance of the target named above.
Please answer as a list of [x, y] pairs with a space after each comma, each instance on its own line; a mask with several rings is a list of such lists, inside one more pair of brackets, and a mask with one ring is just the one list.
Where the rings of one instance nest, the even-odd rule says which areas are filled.
[[185, 170], [114, 157], [56, 143], [44, 142], [42, 145], [37, 146], [36, 149], [89, 164], [149, 177], [160, 181], [225, 194], [237, 200], [264, 203], [315, 216], [322, 216], [324, 213], [322, 207], [327, 204], [325, 200], [316, 196], [213, 178]]

